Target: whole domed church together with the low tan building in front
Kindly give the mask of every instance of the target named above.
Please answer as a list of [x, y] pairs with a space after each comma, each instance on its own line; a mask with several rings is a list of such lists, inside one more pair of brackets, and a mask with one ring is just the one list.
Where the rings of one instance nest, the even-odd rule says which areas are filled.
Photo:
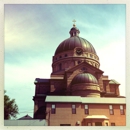
[[103, 75], [95, 48], [75, 23], [69, 34], [52, 57], [50, 79], [34, 81], [33, 118], [48, 126], [125, 126], [120, 83]]

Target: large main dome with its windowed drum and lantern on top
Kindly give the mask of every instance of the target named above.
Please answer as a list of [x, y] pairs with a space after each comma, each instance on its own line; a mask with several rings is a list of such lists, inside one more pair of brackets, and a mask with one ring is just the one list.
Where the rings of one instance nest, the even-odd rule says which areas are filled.
[[57, 47], [53, 56], [53, 73], [64, 73], [82, 62], [99, 68], [99, 57], [93, 45], [86, 39], [79, 37], [79, 29], [75, 25], [70, 29], [70, 38], [64, 40]]

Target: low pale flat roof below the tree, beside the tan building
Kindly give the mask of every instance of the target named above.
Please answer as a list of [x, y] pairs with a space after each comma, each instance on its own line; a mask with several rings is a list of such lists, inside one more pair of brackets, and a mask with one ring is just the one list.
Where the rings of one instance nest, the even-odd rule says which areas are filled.
[[47, 126], [46, 120], [4, 120], [5, 126]]

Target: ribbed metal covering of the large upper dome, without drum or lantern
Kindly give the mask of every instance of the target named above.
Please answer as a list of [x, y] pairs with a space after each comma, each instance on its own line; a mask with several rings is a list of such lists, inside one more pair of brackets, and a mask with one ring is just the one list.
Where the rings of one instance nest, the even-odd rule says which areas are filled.
[[89, 41], [79, 36], [73, 36], [61, 42], [55, 51], [55, 55], [68, 50], [74, 50], [75, 47], [81, 47], [85, 52], [96, 54], [94, 47]]

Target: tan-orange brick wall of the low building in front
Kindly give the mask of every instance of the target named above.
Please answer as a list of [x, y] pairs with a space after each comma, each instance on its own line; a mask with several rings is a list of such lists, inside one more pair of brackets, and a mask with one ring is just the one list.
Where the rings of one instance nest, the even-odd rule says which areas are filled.
[[[87, 125], [87, 122], [92, 122], [95, 125], [95, 122], [102, 122], [102, 125], [105, 125], [105, 122], [108, 121], [108, 125], [115, 123], [116, 126], [126, 125], [126, 116], [120, 114], [120, 106], [113, 105], [114, 115], [109, 113], [109, 104], [88, 104], [89, 105], [89, 114], [88, 115], [105, 115], [109, 120], [104, 119], [93, 119], [86, 120], [87, 114], [84, 112], [84, 104], [76, 103], [76, 114], [72, 114], [72, 104], [73, 103], [55, 103], [56, 104], [56, 113], [51, 114], [51, 103], [47, 103], [47, 111], [50, 111], [47, 114], [46, 119], [50, 122], [51, 126], [60, 126], [60, 124], [71, 124], [71, 126], [76, 126], [76, 122], [80, 121], [80, 125]], [[124, 111], [126, 107], [124, 106]], [[125, 111], [126, 113], [126, 111]]]

